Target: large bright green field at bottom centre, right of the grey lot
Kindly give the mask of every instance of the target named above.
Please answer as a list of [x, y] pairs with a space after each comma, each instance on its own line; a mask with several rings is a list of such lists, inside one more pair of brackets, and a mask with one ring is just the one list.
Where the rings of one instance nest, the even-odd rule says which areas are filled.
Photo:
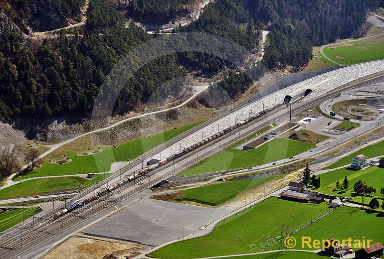
[[[221, 221], [206, 236], [168, 245], [151, 253], [151, 256], [169, 259], [191, 258], [191, 244], [192, 258], [260, 252], [263, 235], [265, 239], [276, 239], [280, 236], [280, 224], [292, 226], [292, 219], [294, 229], [309, 223], [312, 208], [314, 218], [328, 211], [326, 203], [312, 205], [271, 197], [237, 216]], [[271, 250], [277, 246], [276, 244]], [[256, 249], [250, 250], [254, 247]]]

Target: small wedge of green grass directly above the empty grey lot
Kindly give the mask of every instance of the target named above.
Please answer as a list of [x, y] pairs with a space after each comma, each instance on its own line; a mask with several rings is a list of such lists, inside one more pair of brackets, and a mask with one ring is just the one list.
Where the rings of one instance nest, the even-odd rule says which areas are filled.
[[180, 197], [178, 201], [194, 201], [201, 204], [217, 206], [221, 203], [233, 199], [241, 192], [256, 188], [262, 184], [271, 182], [278, 178], [277, 175], [248, 179], [248, 180], [233, 180], [227, 182], [213, 183], [202, 187], [188, 189], [182, 191], [186, 196]]

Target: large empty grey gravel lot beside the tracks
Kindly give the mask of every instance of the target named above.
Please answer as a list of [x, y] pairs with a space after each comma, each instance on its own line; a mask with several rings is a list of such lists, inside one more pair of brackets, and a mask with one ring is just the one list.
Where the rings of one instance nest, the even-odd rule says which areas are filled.
[[143, 198], [128, 208], [89, 227], [90, 236], [158, 245], [182, 239], [224, 215], [224, 208], [205, 208]]

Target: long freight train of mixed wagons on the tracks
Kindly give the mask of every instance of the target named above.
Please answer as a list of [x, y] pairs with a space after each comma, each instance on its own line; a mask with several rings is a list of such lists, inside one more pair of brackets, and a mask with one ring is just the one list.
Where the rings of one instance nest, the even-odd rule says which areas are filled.
[[107, 193], [109, 193], [109, 192], [119, 188], [120, 186], [122, 186], [122, 185], [124, 185], [124, 184], [126, 184], [126, 183], [128, 183], [130, 181], [133, 181], [134, 179], [136, 179], [136, 178], [138, 178], [140, 176], [146, 175], [149, 172], [155, 170], [156, 168], [158, 168], [158, 167], [160, 167], [162, 165], [165, 165], [166, 163], [168, 163], [168, 162], [170, 162], [172, 160], [175, 160], [176, 158], [178, 158], [180, 156], [183, 156], [184, 154], [192, 151], [193, 149], [195, 149], [197, 147], [200, 147], [201, 145], [203, 145], [203, 144], [205, 144], [205, 143], [207, 143], [209, 141], [212, 141], [213, 139], [218, 138], [218, 137], [228, 133], [229, 131], [231, 131], [233, 129], [241, 127], [242, 125], [244, 125], [246, 123], [249, 123], [249, 122], [253, 121], [256, 118], [259, 118], [259, 117], [263, 116], [266, 113], [268, 113], [268, 110], [261, 111], [257, 115], [251, 116], [251, 117], [247, 118], [244, 121], [236, 123], [233, 127], [230, 126], [230, 127], [226, 128], [226, 129], [223, 129], [223, 130], [217, 132], [214, 135], [211, 135], [211, 136], [209, 136], [207, 138], [204, 138], [203, 140], [201, 140], [201, 141], [199, 141], [199, 142], [197, 142], [197, 143], [195, 143], [195, 144], [193, 144], [193, 145], [191, 145], [189, 147], [184, 148], [182, 151], [179, 151], [179, 152], [175, 153], [174, 155], [172, 155], [172, 156], [170, 156], [170, 157], [168, 157], [168, 158], [166, 158], [164, 160], [159, 161], [157, 164], [154, 164], [154, 165], [148, 166], [146, 168], [143, 168], [142, 170], [139, 171], [138, 174], [128, 176], [128, 178], [126, 178], [126, 179], [124, 179], [124, 180], [122, 180], [122, 181], [120, 181], [120, 182], [110, 186], [109, 188], [106, 188], [106, 189], [103, 189], [103, 190], [97, 192], [96, 195], [92, 195], [91, 197], [86, 198], [86, 199], [84, 199], [84, 200], [82, 200], [82, 201], [80, 201], [78, 203], [71, 203], [71, 204], [67, 205], [64, 209], [62, 209], [61, 211], [55, 213], [53, 218], [56, 219], [56, 218], [61, 217], [62, 215], [66, 214], [66, 213], [68, 213], [70, 211], [73, 211], [74, 209], [78, 208], [80, 206], [80, 204], [90, 203], [90, 202], [94, 201], [95, 199], [97, 199], [97, 198], [99, 198], [99, 197], [101, 197], [101, 196], [103, 196], [103, 195], [105, 195], [105, 194], [107, 194]]

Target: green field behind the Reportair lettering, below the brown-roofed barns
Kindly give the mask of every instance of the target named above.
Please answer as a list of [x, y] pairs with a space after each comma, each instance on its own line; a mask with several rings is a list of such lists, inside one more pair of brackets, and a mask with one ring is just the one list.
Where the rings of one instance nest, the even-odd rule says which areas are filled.
[[[328, 228], [341, 221], [348, 224], [346, 228]], [[384, 236], [378, 229], [383, 226], [383, 218], [377, 217], [376, 213], [367, 213], [351, 207], [341, 207], [326, 217], [314, 222], [308, 227], [300, 230], [293, 237], [297, 240], [295, 249], [314, 250], [313, 248], [302, 248], [302, 237], [311, 237], [312, 240], [335, 238], [340, 241], [352, 237], [352, 240], [372, 239], [372, 244], [384, 243]]]

